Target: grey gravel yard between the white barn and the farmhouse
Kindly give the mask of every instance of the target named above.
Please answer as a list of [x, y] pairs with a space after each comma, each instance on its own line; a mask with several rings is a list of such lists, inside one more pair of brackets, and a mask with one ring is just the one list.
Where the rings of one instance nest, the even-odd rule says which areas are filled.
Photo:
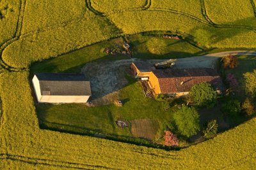
[[125, 75], [129, 73], [131, 60], [96, 60], [88, 62], [81, 70], [90, 81], [94, 106], [113, 103], [119, 98], [119, 90], [127, 85]]

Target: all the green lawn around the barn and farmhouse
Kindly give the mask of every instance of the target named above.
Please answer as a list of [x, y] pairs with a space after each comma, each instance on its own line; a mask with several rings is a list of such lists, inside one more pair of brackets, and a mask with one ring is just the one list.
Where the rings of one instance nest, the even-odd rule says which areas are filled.
[[[170, 58], [189, 57], [200, 53], [198, 48], [190, 45], [184, 40], [163, 39], [152, 36], [134, 35], [129, 36], [133, 57]], [[104, 48], [115, 48], [122, 44], [123, 39], [117, 38], [111, 41], [96, 43], [81, 50], [67, 53], [61, 57], [36, 62], [31, 66], [31, 75], [35, 72], [52, 73], [79, 73], [81, 67], [92, 60], [116, 60], [127, 59], [124, 55], [107, 55]], [[152, 46], [158, 46], [161, 50], [152, 50]], [[161, 53], [154, 53], [161, 52]], [[239, 56], [239, 67], [227, 70], [226, 73], [234, 73], [240, 81], [243, 81], [243, 73], [252, 71], [256, 66], [256, 57]], [[253, 61], [253, 62], [252, 62]], [[170, 110], [164, 111], [163, 102], [154, 101], [145, 97], [140, 84], [127, 76], [129, 85], [120, 90], [120, 98], [125, 101], [123, 107], [114, 104], [108, 106], [87, 107], [84, 104], [38, 104], [36, 106], [38, 118], [45, 128], [56, 129], [68, 132], [85, 133], [92, 131], [99, 134], [115, 134], [118, 136], [132, 136], [128, 128], [120, 129], [115, 125], [115, 120], [136, 120], [150, 118], [159, 124], [158, 134], [163, 133], [166, 122], [172, 119], [173, 106]], [[202, 121], [202, 120], [201, 120]], [[156, 136], [159, 138], [159, 135]]]

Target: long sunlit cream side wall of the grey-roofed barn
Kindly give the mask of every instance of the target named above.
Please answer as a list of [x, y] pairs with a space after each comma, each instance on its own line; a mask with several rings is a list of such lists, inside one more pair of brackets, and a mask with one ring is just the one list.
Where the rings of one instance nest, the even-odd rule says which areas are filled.
[[90, 96], [42, 96], [40, 103], [86, 103]]

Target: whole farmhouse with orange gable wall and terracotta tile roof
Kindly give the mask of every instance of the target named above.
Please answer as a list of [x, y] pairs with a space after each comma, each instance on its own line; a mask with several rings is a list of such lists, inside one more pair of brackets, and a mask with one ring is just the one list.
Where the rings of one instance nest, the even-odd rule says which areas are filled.
[[186, 96], [191, 87], [204, 81], [211, 83], [220, 92], [224, 89], [220, 76], [211, 68], [156, 69], [150, 62], [141, 60], [133, 62], [131, 68], [137, 77], [147, 78], [155, 94]]

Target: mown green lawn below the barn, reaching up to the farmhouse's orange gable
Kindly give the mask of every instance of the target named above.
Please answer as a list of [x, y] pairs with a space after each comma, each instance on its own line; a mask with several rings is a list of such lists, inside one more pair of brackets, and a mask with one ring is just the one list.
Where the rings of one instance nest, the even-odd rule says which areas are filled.
[[[131, 77], [127, 77], [127, 79], [129, 85], [120, 90], [120, 99], [125, 101], [122, 107], [114, 104], [97, 107], [88, 107], [84, 104], [38, 104], [36, 106], [38, 118], [45, 122], [46, 128], [50, 129], [76, 132], [70, 130], [74, 127], [79, 129], [77, 132], [83, 132], [81, 129], [84, 129], [84, 132], [92, 130], [100, 134], [121, 136], [132, 136], [132, 134], [128, 128], [118, 128], [115, 125], [116, 120], [129, 122], [150, 118], [160, 125], [163, 125], [166, 120], [170, 120], [172, 112], [164, 111], [163, 103], [145, 97], [139, 83]], [[155, 133], [156, 130], [153, 130], [152, 133]], [[151, 138], [154, 139], [152, 136]]]

